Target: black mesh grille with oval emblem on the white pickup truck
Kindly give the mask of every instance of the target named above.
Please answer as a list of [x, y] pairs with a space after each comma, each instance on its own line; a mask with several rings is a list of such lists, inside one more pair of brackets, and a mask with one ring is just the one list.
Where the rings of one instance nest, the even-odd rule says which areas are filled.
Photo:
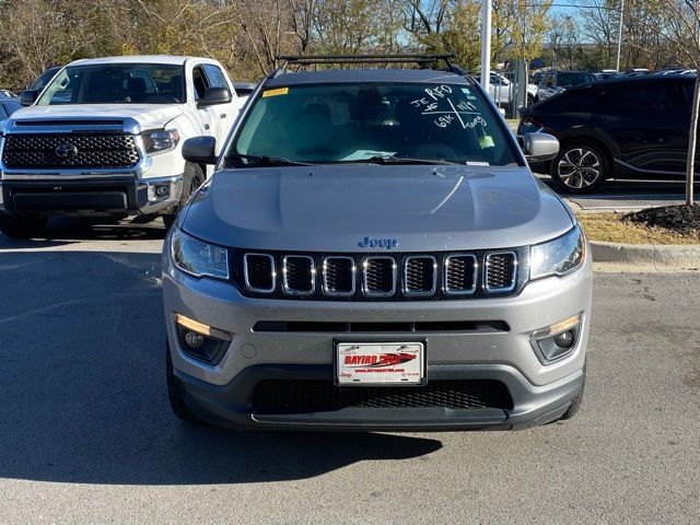
[[2, 162], [9, 168], [132, 167], [139, 152], [131, 135], [11, 133]]

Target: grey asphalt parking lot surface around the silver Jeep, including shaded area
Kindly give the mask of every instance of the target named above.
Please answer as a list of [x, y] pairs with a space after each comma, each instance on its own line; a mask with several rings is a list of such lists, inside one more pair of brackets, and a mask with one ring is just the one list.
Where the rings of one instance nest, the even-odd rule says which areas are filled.
[[596, 273], [586, 399], [499, 433], [184, 424], [159, 223], [0, 236], [0, 523], [698, 523], [700, 275]]

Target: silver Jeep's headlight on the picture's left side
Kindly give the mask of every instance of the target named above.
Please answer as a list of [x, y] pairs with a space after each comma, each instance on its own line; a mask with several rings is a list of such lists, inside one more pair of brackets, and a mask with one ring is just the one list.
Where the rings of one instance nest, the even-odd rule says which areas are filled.
[[171, 237], [171, 256], [173, 264], [190, 276], [229, 279], [226, 248], [199, 241], [179, 229]]

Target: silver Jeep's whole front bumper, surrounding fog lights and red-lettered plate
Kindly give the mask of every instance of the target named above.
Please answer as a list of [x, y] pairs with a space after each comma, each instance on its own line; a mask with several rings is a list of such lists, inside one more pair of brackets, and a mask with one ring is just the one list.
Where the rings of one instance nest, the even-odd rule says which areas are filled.
[[[592, 272], [529, 282], [514, 298], [436, 302], [331, 302], [252, 299], [233, 284], [195, 279], [164, 257], [163, 292], [175, 376], [190, 409], [222, 425], [269, 429], [417, 430], [511, 429], [560, 417], [583, 385], [590, 326]], [[183, 351], [174, 314], [226, 331], [228, 350], [208, 365]], [[530, 345], [532, 332], [583, 313], [574, 351], [544, 365]], [[258, 322], [503, 322], [508, 329], [335, 334], [256, 331]], [[478, 324], [477, 324], [478, 325]], [[337, 411], [260, 413], [252, 402], [267, 380], [332, 382], [334, 339], [416, 341], [427, 345], [428, 383], [494, 380], [508, 388], [508, 408], [345, 408]], [[352, 387], [351, 387], [352, 388]], [[412, 387], [407, 387], [412, 388]], [[420, 388], [420, 387], [415, 387]]]

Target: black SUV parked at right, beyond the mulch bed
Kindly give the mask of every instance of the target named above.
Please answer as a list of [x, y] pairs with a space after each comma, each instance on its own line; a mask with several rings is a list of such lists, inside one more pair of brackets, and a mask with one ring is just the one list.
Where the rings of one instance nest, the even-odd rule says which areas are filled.
[[549, 172], [571, 194], [606, 178], [681, 179], [695, 77], [644, 77], [582, 84], [521, 109], [518, 136], [545, 131], [559, 155], [533, 170]]

